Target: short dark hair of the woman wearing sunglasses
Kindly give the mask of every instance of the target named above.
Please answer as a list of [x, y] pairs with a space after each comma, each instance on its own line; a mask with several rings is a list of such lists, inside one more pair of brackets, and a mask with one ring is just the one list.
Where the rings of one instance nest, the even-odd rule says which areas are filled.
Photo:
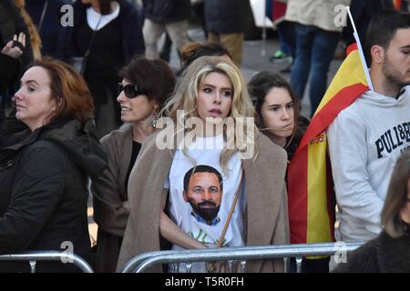
[[137, 85], [138, 91], [164, 105], [175, 86], [175, 75], [169, 65], [160, 59], [149, 60], [145, 56], [135, 56], [119, 71], [119, 76]]

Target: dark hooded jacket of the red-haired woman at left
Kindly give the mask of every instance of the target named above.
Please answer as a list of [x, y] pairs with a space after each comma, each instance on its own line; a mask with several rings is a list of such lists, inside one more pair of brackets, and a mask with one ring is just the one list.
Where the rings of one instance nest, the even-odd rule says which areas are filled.
[[[60, 118], [13, 135], [0, 150], [0, 254], [63, 251], [69, 241], [87, 259], [87, 175], [96, 180], [106, 159], [92, 120], [83, 125]], [[48, 267], [37, 270], [61, 270]]]

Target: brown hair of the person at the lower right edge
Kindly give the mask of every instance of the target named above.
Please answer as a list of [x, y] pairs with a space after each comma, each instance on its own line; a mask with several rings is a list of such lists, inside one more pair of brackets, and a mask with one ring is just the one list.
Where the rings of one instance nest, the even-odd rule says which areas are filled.
[[384, 207], [381, 218], [384, 231], [394, 238], [410, 235], [409, 226], [402, 221], [400, 209], [407, 203], [408, 180], [410, 179], [410, 151], [397, 159], [395, 170], [390, 180], [387, 196], [384, 200]]

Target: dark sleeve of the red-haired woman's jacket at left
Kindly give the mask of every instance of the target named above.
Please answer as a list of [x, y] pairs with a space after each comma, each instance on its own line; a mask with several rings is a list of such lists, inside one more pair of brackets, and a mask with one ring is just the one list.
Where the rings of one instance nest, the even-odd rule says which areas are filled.
[[26, 250], [63, 195], [67, 155], [45, 143], [27, 146], [21, 154], [10, 202], [0, 217], [0, 253]]

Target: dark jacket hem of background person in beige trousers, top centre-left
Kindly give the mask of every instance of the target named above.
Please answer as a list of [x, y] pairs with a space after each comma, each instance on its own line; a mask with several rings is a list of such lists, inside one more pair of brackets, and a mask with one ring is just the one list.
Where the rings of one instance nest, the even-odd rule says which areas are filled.
[[143, 0], [145, 16], [156, 23], [167, 24], [190, 18], [190, 0]]

